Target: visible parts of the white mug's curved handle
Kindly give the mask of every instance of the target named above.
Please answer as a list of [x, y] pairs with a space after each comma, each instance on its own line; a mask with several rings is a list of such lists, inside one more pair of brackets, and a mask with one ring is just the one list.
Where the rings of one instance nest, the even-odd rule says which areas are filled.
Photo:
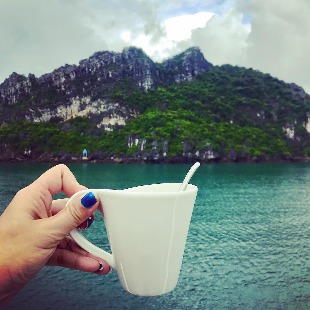
[[[88, 193], [89, 191], [91, 191], [90, 189], [86, 189], [86, 190], [82, 190], [79, 191], [75, 194], [73, 194], [68, 202], [66, 203], [66, 206], [75, 198]], [[105, 261], [108, 262], [108, 264], [111, 266], [111, 268], [113, 268], [115, 270], [115, 262], [113, 259], [112, 254], [108, 253], [105, 250], [102, 250], [100, 247], [95, 246], [94, 244], [92, 244], [90, 241], [88, 241], [79, 231], [79, 229], [76, 227], [73, 230], [71, 230], [71, 232], [69, 232], [69, 235], [72, 237], [72, 239], [85, 251], [98, 256], [102, 259], [104, 259]]]

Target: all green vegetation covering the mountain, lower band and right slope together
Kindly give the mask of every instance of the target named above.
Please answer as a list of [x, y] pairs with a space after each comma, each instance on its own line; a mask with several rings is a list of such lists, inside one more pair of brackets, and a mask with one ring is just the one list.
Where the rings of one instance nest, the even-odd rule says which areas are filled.
[[[0, 148], [9, 145], [16, 152], [31, 148], [55, 155], [60, 150], [79, 154], [86, 148], [130, 156], [138, 152], [138, 146], [127, 148], [126, 141], [129, 135], [137, 135], [139, 141], [146, 139], [144, 151], [148, 152], [152, 142], [157, 141], [157, 150], [168, 142], [167, 156], [182, 154], [185, 144], [193, 153], [212, 148], [219, 157], [232, 150], [242, 156], [310, 155], [309, 133], [304, 128], [310, 100], [294, 95], [290, 87], [269, 74], [230, 65], [214, 66], [195, 81], [162, 85], [148, 92], [139, 91], [130, 77], [113, 84], [95, 81], [96, 76], [89, 77], [92, 86], [86, 93], [91, 100], [118, 102], [141, 115], [113, 132], [98, 129], [87, 117], [66, 122], [15, 121], [0, 127]], [[81, 88], [83, 82], [74, 80], [72, 87]], [[51, 107], [63, 96], [62, 92], [38, 89], [32, 99], [11, 109], [21, 113], [29, 106]], [[298, 142], [287, 143], [283, 131], [286, 124], [294, 124]]]

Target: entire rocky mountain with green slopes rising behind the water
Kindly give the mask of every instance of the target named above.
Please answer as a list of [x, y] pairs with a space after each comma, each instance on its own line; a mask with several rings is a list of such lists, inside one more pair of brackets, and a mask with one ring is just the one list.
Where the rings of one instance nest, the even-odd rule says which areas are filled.
[[162, 63], [101, 51], [0, 84], [2, 160], [256, 161], [310, 155], [310, 96], [197, 47]]

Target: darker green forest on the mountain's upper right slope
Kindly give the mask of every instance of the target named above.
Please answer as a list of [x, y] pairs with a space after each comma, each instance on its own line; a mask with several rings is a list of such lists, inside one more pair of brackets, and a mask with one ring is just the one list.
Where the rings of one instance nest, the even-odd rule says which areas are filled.
[[[253, 69], [214, 66], [196, 81], [158, 87], [148, 93], [122, 93], [123, 104], [144, 112], [147, 108], [179, 108], [214, 122], [282, 130], [285, 122], [306, 121], [310, 100], [293, 95], [282, 81]], [[257, 116], [259, 113], [259, 116]], [[275, 118], [274, 115], [277, 115]]]

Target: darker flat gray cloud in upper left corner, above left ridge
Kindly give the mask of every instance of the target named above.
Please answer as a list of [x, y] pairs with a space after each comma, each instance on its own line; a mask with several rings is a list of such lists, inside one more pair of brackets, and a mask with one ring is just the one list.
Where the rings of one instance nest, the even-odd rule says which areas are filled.
[[2, 1], [1, 80], [12, 71], [40, 75], [106, 49], [95, 31], [80, 22], [83, 18], [69, 1]]

